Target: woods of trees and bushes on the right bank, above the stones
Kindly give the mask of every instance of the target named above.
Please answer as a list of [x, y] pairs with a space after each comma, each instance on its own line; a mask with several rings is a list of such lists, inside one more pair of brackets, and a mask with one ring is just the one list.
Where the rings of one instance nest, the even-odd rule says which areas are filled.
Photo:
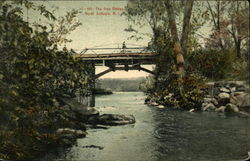
[[199, 108], [207, 81], [249, 80], [248, 10], [247, 1], [129, 1], [125, 30], [139, 40], [150, 27], [149, 46], [160, 54], [148, 100]]

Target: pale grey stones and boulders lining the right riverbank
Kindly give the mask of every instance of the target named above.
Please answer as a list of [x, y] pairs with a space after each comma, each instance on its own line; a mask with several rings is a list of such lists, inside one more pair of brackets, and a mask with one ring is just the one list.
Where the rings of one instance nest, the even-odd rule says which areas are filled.
[[[250, 116], [250, 87], [244, 81], [208, 82], [204, 90], [207, 94], [202, 100], [201, 111], [234, 112]], [[152, 99], [145, 100], [145, 103], [164, 108]], [[197, 109], [190, 110], [194, 111]]]

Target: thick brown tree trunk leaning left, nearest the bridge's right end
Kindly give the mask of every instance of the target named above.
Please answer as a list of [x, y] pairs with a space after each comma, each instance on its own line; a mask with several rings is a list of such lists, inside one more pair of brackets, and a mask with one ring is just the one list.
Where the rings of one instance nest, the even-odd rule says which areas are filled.
[[180, 77], [184, 76], [185, 69], [184, 69], [184, 58], [183, 58], [183, 51], [181, 49], [180, 41], [178, 38], [178, 33], [177, 33], [177, 27], [176, 27], [176, 22], [175, 22], [175, 14], [173, 11], [173, 7], [170, 3], [170, 0], [165, 1], [165, 6], [167, 9], [168, 13], [168, 23], [169, 23], [169, 28], [171, 31], [171, 36], [173, 39], [174, 43], [174, 53], [176, 57], [176, 64], [177, 64], [177, 74], [179, 74]]

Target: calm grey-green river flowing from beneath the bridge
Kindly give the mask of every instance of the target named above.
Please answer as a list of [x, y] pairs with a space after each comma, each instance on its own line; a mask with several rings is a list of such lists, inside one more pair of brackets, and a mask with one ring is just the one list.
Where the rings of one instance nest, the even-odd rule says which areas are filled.
[[[215, 112], [160, 109], [141, 92], [96, 97], [103, 113], [132, 114], [133, 125], [89, 129], [86, 138], [60, 153], [63, 160], [235, 160], [250, 151], [250, 119]], [[98, 148], [84, 148], [96, 145]]]

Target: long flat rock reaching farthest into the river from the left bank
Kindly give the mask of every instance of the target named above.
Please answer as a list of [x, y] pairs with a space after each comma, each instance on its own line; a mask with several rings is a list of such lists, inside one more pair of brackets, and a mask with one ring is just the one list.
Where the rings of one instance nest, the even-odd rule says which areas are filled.
[[90, 124], [100, 125], [126, 125], [135, 123], [135, 117], [133, 115], [118, 115], [118, 114], [103, 114], [100, 116], [90, 117], [88, 120]]

